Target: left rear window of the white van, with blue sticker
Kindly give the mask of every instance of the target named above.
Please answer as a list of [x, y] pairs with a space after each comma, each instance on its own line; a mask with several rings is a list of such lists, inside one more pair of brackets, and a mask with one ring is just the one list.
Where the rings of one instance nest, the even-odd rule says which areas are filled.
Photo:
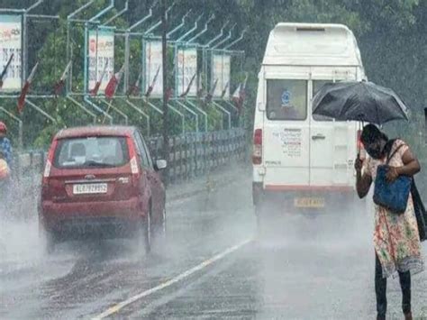
[[268, 120], [305, 120], [307, 118], [307, 81], [267, 80]]

